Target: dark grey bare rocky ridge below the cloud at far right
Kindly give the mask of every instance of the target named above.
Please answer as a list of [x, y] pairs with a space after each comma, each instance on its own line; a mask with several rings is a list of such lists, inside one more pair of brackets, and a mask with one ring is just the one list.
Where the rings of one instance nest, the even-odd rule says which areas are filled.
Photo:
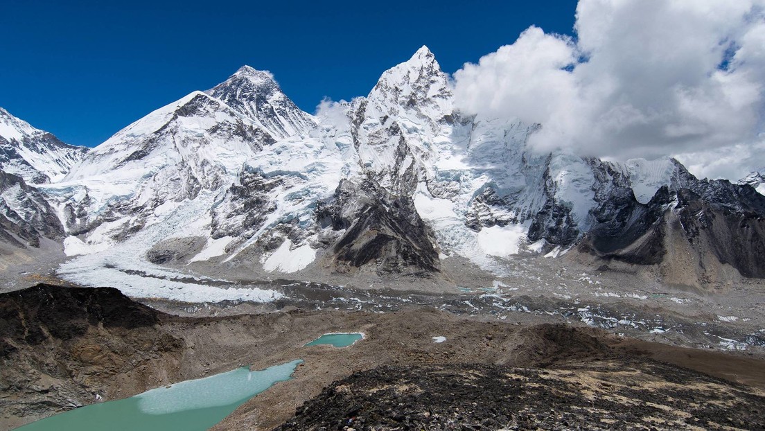
[[[757, 256], [765, 251], [765, 197], [749, 184], [700, 181], [673, 162], [674, 178], [646, 204], [637, 202], [620, 174], [607, 167], [610, 190], [593, 211], [597, 224], [579, 250], [666, 270], [683, 266], [695, 275], [690, 279], [702, 281], [717, 281], [722, 266], [763, 278], [765, 262]], [[681, 253], [685, 256], [679, 260]]]

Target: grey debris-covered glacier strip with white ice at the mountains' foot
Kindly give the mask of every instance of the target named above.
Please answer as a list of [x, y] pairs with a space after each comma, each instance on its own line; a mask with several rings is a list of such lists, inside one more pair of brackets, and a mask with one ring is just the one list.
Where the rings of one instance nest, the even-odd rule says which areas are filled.
[[[77, 286], [77, 279], [60, 273], [67, 260], [52, 248], [39, 256], [21, 256], [21, 251], [0, 256], [5, 262], [0, 292], [37, 282]], [[117, 281], [124, 276], [132, 286], [120, 287], [126, 295], [178, 315], [272, 312], [288, 306], [390, 312], [422, 305], [499, 322], [584, 324], [646, 341], [765, 358], [765, 280], [737, 277], [669, 286], [658, 281], [661, 269], [617, 264], [595, 269], [581, 258], [575, 252], [557, 259], [519, 255], [487, 270], [450, 257], [441, 261], [441, 273], [428, 277], [333, 273], [318, 263], [289, 274], [216, 262], [143, 267], [129, 262], [124, 268], [83, 267], [79, 273], [106, 271]], [[96, 280], [86, 286], [104, 285]]]

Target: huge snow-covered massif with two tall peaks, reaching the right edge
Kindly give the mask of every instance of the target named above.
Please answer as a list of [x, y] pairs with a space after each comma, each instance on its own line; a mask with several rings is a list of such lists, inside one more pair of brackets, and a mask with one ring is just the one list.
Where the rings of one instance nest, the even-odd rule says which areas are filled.
[[210, 264], [433, 276], [450, 256], [502, 273], [518, 253], [569, 250], [672, 282], [765, 277], [759, 183], [698, 180], [672, 158], [540, 154], [526, 142], [541, 127], [459, 112], [427, 47], [317, 116], [242, 67], [35, 190], [66, 231], [60, 275], [83, 284]]

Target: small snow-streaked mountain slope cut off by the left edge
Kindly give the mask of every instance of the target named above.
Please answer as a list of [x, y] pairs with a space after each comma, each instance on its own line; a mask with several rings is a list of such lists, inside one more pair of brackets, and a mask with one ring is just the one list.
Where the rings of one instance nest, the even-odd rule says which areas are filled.
[[29, 184], [58, 181], [88, 149], [67, 145], [56, 136], [0, 108], [0, 169]]

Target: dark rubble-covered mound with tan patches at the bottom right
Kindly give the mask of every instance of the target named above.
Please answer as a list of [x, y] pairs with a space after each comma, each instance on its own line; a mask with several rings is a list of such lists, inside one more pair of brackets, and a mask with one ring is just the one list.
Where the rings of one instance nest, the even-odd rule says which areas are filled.
[[765, 429], [763, 413], [750, 387], [645, 358], [383, 366], [334, 382], [274, 431]]

